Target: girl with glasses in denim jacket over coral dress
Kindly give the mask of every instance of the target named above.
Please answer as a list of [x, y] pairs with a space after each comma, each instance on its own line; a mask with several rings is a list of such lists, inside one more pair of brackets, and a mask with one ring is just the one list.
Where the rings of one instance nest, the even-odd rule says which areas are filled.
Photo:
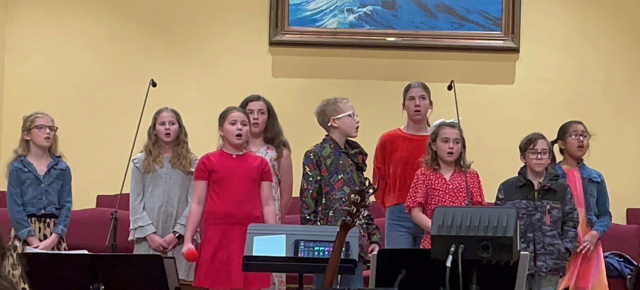
[[[569, 259], [566, 276], [558, 289], [609, 289], [600, 243], [611, 225], [609, 195], [602, 174], [582, 160], [589, 150], [590, 140], [591, 134], [582, 121], [568, 121], [560, 126], [552, 141], [563, 155], [563, 160], [556, 164], [556, 171], [571, 187], [580, 219], [578, 250]], [[552, 162], [556, 162], [555, 155]]]

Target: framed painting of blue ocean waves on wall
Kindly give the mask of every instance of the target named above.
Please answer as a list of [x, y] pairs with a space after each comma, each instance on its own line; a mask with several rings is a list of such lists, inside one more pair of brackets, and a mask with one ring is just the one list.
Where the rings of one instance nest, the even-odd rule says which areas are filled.
[[520, 51], [521, 0], [271, 0], [269, 45]]

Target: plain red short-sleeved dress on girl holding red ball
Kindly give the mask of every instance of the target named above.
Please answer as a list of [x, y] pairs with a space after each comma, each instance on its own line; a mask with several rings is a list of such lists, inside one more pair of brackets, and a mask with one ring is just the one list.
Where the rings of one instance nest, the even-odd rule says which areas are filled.
[[221, 149], [198, 160], [194, 180], [208, 181], [193, 286], [206, 289], [263, 289], [271, 273], [242, 271], [249, 224], [264, 223], [260, 183], [272, 181], [265, 158]]

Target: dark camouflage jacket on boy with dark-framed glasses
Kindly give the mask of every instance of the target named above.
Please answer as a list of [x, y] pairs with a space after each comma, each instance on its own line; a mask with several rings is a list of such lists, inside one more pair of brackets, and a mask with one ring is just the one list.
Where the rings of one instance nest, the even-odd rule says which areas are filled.
[[529, 252], [529, 274], [563, 276], [576, 250], [578, 212], [571, 188], [556, 170], [547, 173], [538, 190], [527, 178], [527, 167], [500, 184], [496, 206], [512, 206], [520, 213], [520, 250]]

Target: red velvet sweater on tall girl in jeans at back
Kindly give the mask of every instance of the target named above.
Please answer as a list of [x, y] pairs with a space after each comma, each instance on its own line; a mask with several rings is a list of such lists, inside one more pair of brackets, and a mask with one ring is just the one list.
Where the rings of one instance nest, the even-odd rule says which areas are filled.
[[427, 152], [429, 135], [408, 134], [396, 128], [380, 136], [373, 156], [373, 182], [378, 187], [376, 201], [388, 206], [406, 201], [420, 159]]

